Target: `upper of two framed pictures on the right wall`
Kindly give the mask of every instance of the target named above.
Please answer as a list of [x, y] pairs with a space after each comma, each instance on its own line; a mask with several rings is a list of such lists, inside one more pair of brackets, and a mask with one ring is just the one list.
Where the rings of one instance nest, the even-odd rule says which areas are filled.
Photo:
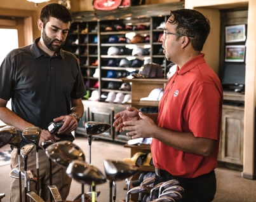
[[245, 25], [226, 27], [226, 43], [245, 41]]

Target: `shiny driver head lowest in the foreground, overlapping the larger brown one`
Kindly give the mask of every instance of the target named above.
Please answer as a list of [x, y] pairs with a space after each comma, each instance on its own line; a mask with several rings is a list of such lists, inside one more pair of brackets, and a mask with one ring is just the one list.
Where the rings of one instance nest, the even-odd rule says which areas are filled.
[[66, 170], [67, 175], [81, 184], [95, 185], [106, 182], [105, 176], [98, 168], [88, 165], [83, 161], [72, 161]]

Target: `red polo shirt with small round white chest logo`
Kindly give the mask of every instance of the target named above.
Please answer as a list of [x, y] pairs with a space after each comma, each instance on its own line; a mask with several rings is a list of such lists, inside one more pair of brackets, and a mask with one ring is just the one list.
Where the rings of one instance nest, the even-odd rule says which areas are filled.
[[153, 138], [154, 165], [174, 176], [194, 178], [217, 167], [223, 93], [219, 77], [206, 64], [204, 56], [192, 58], [169, 79], [159, 103], [157, 124], [217, 140], [217, 144], [212, 155], [204, 157], [173, 149]]

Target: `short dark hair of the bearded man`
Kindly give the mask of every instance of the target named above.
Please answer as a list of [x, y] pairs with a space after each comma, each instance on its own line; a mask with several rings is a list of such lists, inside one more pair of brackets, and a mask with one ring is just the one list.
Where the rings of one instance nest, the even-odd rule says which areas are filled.
[[50, 17], [57, 18], [58, 20], [69, 23], [73, 22], [73, 19], [71, 17], [71, 13], [69, 10], [63, 6], [62, 4], [57, 3], [51, 3], [44, 6], [40, 13], [40, 20], [42, 20], [44, 27], [47, 22], [49, 22]]

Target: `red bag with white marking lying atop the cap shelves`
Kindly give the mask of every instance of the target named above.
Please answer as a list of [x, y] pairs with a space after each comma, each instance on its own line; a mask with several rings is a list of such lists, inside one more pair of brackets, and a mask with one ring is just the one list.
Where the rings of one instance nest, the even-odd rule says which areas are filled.
[[117, 8], [145, 4], [145, 0], [93, 0], [94, 10], [111, 11]]

